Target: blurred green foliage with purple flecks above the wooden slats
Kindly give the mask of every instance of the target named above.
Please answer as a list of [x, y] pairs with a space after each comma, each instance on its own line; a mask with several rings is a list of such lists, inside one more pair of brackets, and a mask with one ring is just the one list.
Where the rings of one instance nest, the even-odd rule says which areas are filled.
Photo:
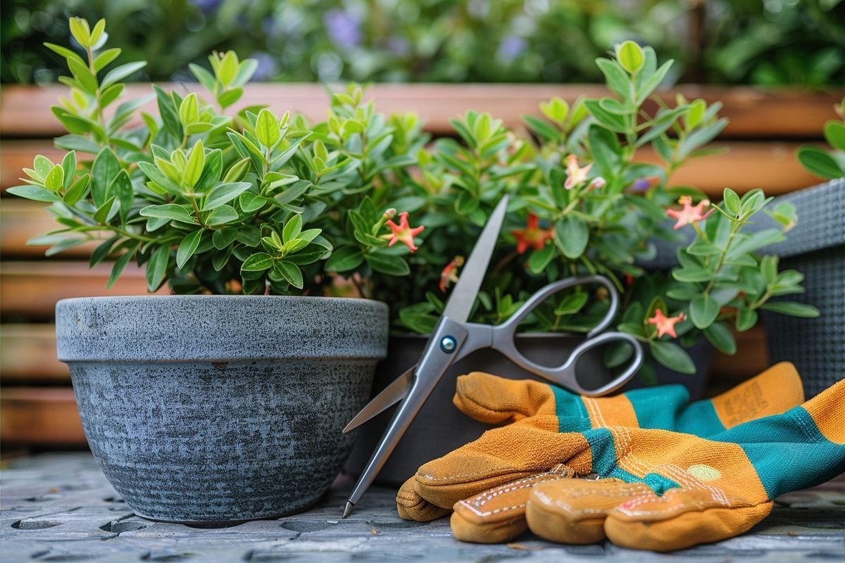
[[594, 59], [632, 39], [673, 80], [845, 84], [842, 0], [4, 0], [2, 80], [49, 83], [68, 16], [106, 18], [138, 80], [193, 80], [234, 49], [258, 80], [601, 82]]

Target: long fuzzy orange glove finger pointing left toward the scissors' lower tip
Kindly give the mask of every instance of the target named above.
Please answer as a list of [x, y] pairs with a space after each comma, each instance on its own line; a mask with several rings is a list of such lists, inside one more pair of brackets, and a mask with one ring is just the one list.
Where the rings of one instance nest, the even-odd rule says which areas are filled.
[[[548, 422], [548, 421], [547, 421]], [[442, 508], [483, 490], [547, 471], [566, 463], [576, 474], [590, 470], [590, 447], [583, 435], [558, 434], [523, 420], [485, 432], [477, 441], [419, 468], [415, 490], [426, 501]], [[553, 425], [557, 419], [553, 417]]]

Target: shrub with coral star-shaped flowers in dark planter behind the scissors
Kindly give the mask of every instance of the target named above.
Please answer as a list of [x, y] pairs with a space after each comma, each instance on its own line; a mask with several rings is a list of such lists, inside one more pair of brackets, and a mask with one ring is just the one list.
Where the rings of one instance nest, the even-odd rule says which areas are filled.
[[[573, 107], [550, 100], [541, 106], [545, 119], [525, 118], [532, 138], [472, 111], [455, 120], [460, 141], [440, 140], [432, 154], [421, 156], [421, 193], [432, 194], [431, 204], [420, 216], [427, 231], [412, 258], [418, 261], [415, 283], [391, 289], [394, 303], [410, 302], [400, 308], [399, 323], [418, 333], [433, 328], [478, 226], [504, 192], [515, 194], [510, 232], [500, 241], [472, 321], [503, 321], [548, 281], [602, 273], [623, 295], [617, 328], [641, 340], [648, 352], [641, 382], [684, 382], [672, 374], [688, 374], [695, 395], [706, 382], [706, 344], [734, 354], [733, 331], [755, 326], [759, 311], [817, 316], [813, 306], [770, 302], [803, 292], [801, 273], [778, 271], [777, 257], [760, 253], [795, 225], [794, 206], [772, 205], [764, 215], [760, 211], [771, 198], [760, 190], [740, 198], [726, 189], [722, 203], [713, 205], [695, 187], [667, 187], [673, 171], [708, 154], [711, 149], [703, 145], [727, 125], [717, 116], [720, 105], [708, 107], [704, 100], [679, 98], [675, 106], [648, 110], [646, 102], [671, 64], [658, 68], [651, 48], [632, 42], [617, 46], [613, 59], [597, 60], [613, 96], [580, 100]], [[648, 149], [661, 164], [638, 160]], [[770, 219], [765, 230], [754, 228], [761, 216]], [[671, 262], [655, 262], [661, 241], [673, 249]], [[410, 295], [404, 298], [403, 291]], [[553, 364], [564, 357], [558, 349], [572, 344], [550, 334], [586, 333], [607, 306], [607, 295], [594, 288], [559, 295], [526, 319], [524, 329], [538, 334], [523, 337], [521, 346]], [[383, 364], [390, 376], [412, 365], [423, 342], [391, 339], [390, 358]], [[688, 349], [700, 352], [696, 361]], [[593, 358], [581, 371], [594, 376], [602, 367], [619, 369], [630, 352], [625, 344], [609, 347], [603, 359]], [[690, 377], [696, 368], [698, 375]], [[472, 370], [528, 376], [488, 352], [455, 365], [449, 375]], [[390, 382], [388, 373], [379, 371], [377, 389]], [[452, 387], [446, 381], [390, 457], [382, 479], [401, 482], [421, 463], [484, 430], [448, 408]], [[352, 472], [380, 435], [381, 427], [374, 426], [347, 465]]]

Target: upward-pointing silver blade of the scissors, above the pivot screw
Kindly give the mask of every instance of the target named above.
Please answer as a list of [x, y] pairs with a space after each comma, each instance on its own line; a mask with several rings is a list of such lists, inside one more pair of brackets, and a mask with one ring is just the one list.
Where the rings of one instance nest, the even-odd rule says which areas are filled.
[[487, 267], [490, 264], [490, 257], [493, 256], [496, 241], [499, 240], [499, 231], [502, 230], [504, 211], [507, 207], [508, 196], [504, 195], [499, 201], [499, 205], [490, 214], [487, 225], [484, 225], [481, 235], [478, 236], [476, 241], [476, 246], [472, 249], [469, 259], [464, 264], [461, 277], [458, 278], [458, 283], [455, 284], [455, 289], [452, 290], [452, 295], [446, 303], [446, 308], [443, 311], [444, 317], [449, 317], [457, 322], [466, 322], [470, 317], [472, 305], [475, 303], [478, 290], [481, 289], [481, 283], [487, 274]]

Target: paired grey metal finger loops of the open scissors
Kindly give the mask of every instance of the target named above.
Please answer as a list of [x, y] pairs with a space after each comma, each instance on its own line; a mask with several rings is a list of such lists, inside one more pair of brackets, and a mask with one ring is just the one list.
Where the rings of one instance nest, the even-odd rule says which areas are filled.
[[[607, 314], [604, 318], [602, 318], [602, 321], [599, 322], [589, 333], [587, 333], [587, 339], [576, 346], [561, 365], [540, 365], [522, 355], [522, 353], [516, 349], [515, 344], [516, 328], [519, 326], [520, 322], [522, 322], [525, 317], [531, 313], [531, 311], [540, 305], [542, 301], [546, 300], [549, 295], [553, 295], [560, 290], [579, 284], [601, 284], [607, 288], [608, 295], [610, 295], [610, 306], [608, 307]], [[499, 350], [499, 352], [507, 356], [507, 358], [516, 365], [519, 365], [527, 371], [531, 371], [537, 376], [548, 379], [548, 381], [557, 383], [561, 387], [566, 387], [571, 391], [577, 392], [581, 395], [586, 395], [587, 397], [605, 395], [609, 392], [615, 391], [628, 382], [628, 380], [630, 380], [630, 378], [640, 370], [643, 361], [642, 346], [640, 342], [630, 334], [611, 332], [598, 334], [598, 336], [596, 336], [597, 333], [602, 332], [602, 330], [607, 328], [608, 325], [613, 322], [613, 318], [616, 317], [618, 309], [619, 293], [616, 291], [616, 288], [613, 286], [611, 281], [604, 276], [575, 276], [572, 278], [561, 279], [557, 282], [548, 284], [541, 290], [537, 291], [537, 293], [532, 295], [531, 298], [520, 307], [519, 311], [516, 311], [515, 315], [510, 317], [507, 322], [504, 322], [498, 327], [493, 327], [492, 345], [494, 349]], [[601, 344], [612, 342], [613, 340], [624, 340], [634, 347], [634, 359], [631, 361], [628, 369], [626, 369], [621, 375], [615, 377], [612, 382], [602, 385], [602, 387], [598, 387], [596, 389], [584, 388], [575, 376], [575, 366], [578, 364], [578, 360], [582, 355], [585, 355], [588, 350], [596, 348]]]

